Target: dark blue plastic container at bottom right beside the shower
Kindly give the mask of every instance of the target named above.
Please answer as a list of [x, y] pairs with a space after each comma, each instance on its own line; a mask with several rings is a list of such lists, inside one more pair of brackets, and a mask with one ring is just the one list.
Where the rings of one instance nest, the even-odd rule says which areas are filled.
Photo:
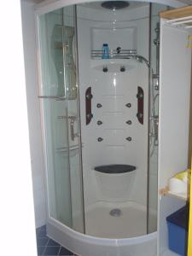
[[189, 206], [179, 209], [166, 218], [168, 225], [169, 249], [187, 256]]

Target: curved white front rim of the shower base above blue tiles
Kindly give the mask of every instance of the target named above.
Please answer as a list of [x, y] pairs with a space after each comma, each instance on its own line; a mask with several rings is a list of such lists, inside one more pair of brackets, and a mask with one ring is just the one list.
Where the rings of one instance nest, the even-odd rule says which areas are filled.
[[49, 218], [47, 233], [50, 238], [81, 256], [157, 256], [156, 232], [132, 238], [100, 238], [81, 234]]

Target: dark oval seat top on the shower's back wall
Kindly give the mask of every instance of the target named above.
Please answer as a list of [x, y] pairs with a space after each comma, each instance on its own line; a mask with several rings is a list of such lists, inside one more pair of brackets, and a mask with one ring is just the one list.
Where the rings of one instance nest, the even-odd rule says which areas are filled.
[[108, 166], [96, 166], [96, 172], [103, 172], [108, 174], [117, 174], [117, 173], [125, 173], [132, 172], [136, 170], [136, 166], [129, 165], [108, 165]]

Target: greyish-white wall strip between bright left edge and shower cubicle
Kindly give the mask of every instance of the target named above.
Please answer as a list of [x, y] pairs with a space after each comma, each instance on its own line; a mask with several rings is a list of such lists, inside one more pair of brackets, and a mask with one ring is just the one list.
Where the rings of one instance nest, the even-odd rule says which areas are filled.
[[38, 100], [38, 70], [33, 3], [21, 1], [26, 71], [26, 97], [36, 227], [45, 224], [44, 160]]

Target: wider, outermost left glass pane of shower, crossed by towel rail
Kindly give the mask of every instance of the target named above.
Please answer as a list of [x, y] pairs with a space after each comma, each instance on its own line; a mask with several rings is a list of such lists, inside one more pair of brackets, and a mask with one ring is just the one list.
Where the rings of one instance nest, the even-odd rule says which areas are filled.
[[[42, 64], [42, 94], [44, 101], [44, 131], [46, 167], [49, 183], [49, 213], [62, 224], [72, 226], [70, 173], [68, 160], [67, 101], [64, 96], [63, 55], [55, 47], [55, 38], [61, 38], [55, 27], [62, 25], [58, 12], [41, 15], [39, 35]], [[60, 74], [60, 76], [59, 76]], [[53, 97], [53, 98], [51, 98]], [[55, 98], [54, 98], [55, 97]]]

